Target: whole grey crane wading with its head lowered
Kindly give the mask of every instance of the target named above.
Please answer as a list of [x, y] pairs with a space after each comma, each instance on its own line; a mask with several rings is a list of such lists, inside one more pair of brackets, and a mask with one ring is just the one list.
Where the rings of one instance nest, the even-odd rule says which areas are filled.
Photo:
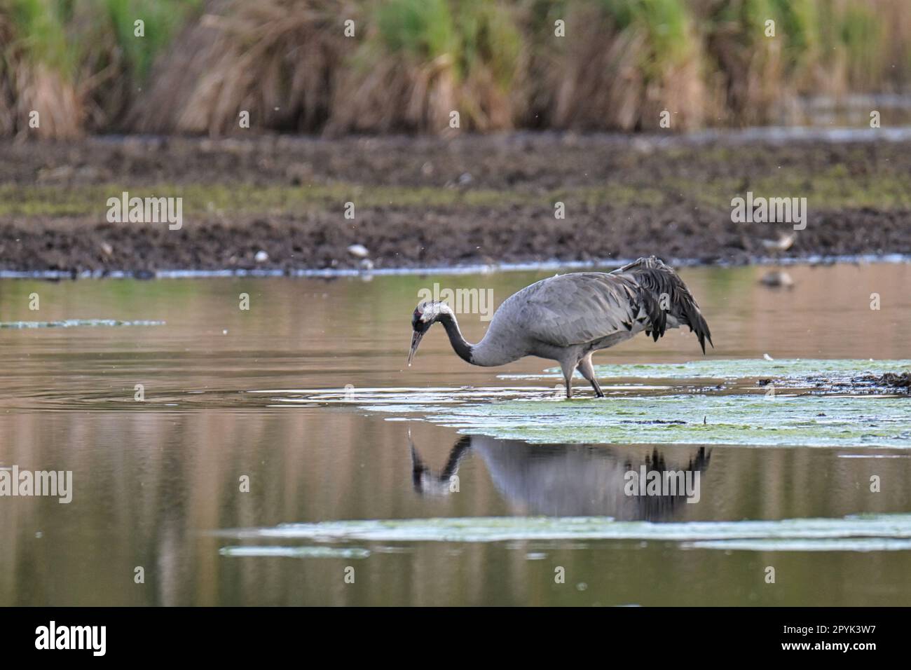
[[[680, 276], [654, 256], [611, 273], [558, 274], [526, 286], [497, 308], [484, 338], [466, 342], [449, 305], [427, 301], [412, 315], [410, 366], [421, 338], [443, 324], [455, 353], [474, 366], [503, 366], [524, 356], [558, 361], [572, 397], [578, 370], [604, 397], [591, 355], [645, 333], [656, 342], [668, 328], [690, 326], [702, 353], [711, 343], [709, 325]], [[714, 346], [714, 345], [712, 345]]]

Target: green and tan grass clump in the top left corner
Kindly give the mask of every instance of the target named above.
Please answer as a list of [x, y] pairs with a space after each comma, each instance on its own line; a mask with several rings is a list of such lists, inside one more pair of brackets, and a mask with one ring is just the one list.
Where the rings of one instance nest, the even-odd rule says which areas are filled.
[[145, 63], [198, 1], [0, 0], [0, 135], [64, 139], [118, 129]]

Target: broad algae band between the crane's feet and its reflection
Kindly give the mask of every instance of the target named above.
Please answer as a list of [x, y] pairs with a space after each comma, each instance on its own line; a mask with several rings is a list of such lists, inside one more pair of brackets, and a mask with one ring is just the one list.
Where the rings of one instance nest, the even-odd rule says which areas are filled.
[[371, 408], [537, 443], [911, 448], [906, 397], [685, 394]]

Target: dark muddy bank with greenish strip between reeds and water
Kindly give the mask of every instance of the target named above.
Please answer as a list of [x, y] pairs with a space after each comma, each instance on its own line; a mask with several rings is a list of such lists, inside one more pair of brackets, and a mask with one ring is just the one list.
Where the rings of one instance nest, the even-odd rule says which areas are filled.
[[[911, 142], [88, 139], [0, 145], [0, 270], [377, 268], [911, 253]], [[107, 199], [182, 198], [179, 230], [107, 222]], [[807, 225], [734, 223], [747, 191]], [[345, 203], [353, 202], [353, 219]], [[562, 202], [565, 218], [557, 218]]]

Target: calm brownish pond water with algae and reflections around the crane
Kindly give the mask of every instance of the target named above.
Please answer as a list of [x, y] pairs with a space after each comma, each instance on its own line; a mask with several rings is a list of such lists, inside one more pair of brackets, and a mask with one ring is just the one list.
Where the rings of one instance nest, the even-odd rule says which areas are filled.
[[0, 328], [0, 467], [73, 472], [0, 498], [0, 604], [908, 604], [911, 400], [817, 383], [906, 365], [911, 266], [764, 272], [682, 271], [716, 348], [602, 352], [600, 404], [438, 328], [405, 366], [419, 289], [540, 273], [0, 281], [4, 325], [71, 326]]

